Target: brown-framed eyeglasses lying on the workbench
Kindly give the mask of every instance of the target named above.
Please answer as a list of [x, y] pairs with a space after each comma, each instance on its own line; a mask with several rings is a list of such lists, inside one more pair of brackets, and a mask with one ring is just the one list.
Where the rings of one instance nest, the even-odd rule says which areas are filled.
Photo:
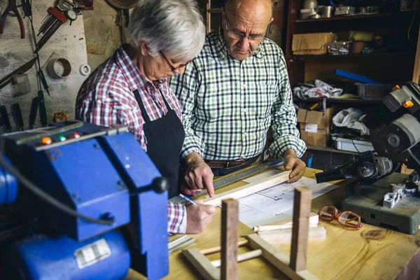
[[361, 218], [358, 214], [351, 211], [339, 212], [336, 207], [332, 205], [325, 205], [318, 211], [318, 216], [324, 221], [336, 220], [346, 228], [359, 229], [362, 227]]

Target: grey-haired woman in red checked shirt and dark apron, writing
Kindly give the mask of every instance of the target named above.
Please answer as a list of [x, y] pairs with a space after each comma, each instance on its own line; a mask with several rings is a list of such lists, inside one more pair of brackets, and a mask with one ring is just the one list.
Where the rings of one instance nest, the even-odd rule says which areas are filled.
[[[194, 0], [141, 0], [130, 16], [131, 45], [121, 45], [85, 80], [76, 118], [106, 127], [127, 125], [178, 194], [184, 141], [181, 107], [167, 84], [204, 45], [205, 27]], [[169, 233], [207, 228], [214, 207], [168, 203]]]

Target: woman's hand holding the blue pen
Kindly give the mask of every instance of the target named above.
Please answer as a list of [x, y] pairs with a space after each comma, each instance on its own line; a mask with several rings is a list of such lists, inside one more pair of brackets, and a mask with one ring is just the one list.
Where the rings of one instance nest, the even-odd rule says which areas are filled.
[[187, 229], [186, 233], [200, 233], [207, 229], [211, 216], [216, 212], [213, 205], [204, 205], [202, 200], [195, 200], [198, 205], [187, 204]]

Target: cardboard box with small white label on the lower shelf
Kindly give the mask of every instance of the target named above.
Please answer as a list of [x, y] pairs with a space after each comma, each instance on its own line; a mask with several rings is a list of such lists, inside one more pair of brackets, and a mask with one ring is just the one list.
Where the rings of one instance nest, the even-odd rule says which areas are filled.
[[334, 113], [334, 108], [328, 108], [325, 112], [299, 109], [297, 122], [300, 123], [300, 139], [309, 146], [327, 146]]

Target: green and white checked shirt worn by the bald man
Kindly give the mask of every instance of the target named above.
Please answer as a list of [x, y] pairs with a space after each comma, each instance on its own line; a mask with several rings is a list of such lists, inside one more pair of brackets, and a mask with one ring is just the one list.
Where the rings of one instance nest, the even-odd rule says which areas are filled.
[[291, 148], [300, 158], [306, 150], [283, 52], [267, 38], [241, 62], [228, 52], [219, 28], [207, 34], [200, 54], [170, 85], [186, 127], [182, 158], [192, 152], [205, 160], [253, 158], [262, 153], [270, 125], [269, 155], [281, 158]]

